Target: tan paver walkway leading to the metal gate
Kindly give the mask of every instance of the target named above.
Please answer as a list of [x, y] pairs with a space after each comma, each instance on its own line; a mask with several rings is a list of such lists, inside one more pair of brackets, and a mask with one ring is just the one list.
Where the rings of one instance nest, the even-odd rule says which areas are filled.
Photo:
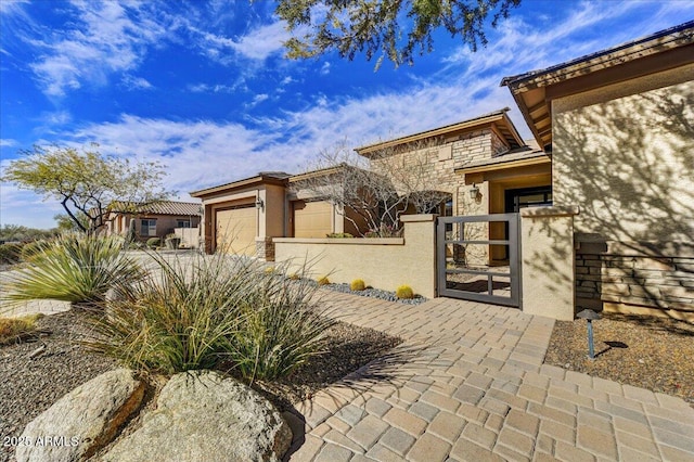
[[542, 364], [552, 320], [446, 298], [325, 300], [404, 343], [296, 406], [306, 434], [291, 461], [694, 460], [683, 400]]

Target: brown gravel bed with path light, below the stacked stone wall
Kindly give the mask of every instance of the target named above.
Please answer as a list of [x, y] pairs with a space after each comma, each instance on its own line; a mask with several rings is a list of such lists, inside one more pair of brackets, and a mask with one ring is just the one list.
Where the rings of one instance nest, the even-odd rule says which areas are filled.
[[557, 321], [544, 362], [677, 396], [694, 407], [694, 325], [666, 318], [604, 313], [593, 321], [595, 359], [586, 321]]

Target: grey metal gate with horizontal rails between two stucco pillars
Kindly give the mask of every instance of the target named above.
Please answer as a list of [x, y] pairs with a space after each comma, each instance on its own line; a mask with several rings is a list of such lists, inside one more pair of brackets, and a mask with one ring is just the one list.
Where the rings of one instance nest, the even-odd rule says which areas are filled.
[[[439, 217], [438, 295], [519, 307], [518, 217], [518, 214]], [[492, 235], [503, 239], [491, 239]]]

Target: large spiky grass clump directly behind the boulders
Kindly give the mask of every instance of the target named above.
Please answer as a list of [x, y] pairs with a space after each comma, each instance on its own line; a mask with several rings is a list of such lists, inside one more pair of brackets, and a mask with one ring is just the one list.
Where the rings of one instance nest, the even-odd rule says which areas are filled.
[[157, 270], [91, 320], [92, 350], [167, 374], [223, 360], [253, 382], [286, 375], [324, 348], [331, 321], [311, 306], [310, 280], [266, 272], [248, 258], [153, 258]]

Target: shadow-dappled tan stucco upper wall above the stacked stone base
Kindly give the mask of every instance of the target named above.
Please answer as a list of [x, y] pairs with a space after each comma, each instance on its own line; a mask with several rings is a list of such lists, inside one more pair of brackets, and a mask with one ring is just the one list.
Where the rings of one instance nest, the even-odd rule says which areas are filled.
[[694, 64], [556, 99], [554, 204], [617, 241], [694, 235]]

